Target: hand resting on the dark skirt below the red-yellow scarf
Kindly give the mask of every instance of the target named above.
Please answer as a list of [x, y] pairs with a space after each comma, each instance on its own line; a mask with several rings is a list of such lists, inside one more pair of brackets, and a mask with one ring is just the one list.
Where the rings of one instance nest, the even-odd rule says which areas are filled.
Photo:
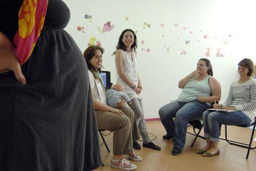
[[14, 47], [9, 39], [0, 32], [0, 73], [6, 70], [12, 70], [19, 83], [27, 83], [24, 77], [20, 62], [15, 56]]

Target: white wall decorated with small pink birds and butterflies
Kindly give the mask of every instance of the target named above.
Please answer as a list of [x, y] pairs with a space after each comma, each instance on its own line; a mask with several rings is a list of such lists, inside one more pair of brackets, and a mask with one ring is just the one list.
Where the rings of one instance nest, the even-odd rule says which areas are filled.
[[[143, 106], [146, 118], [158, 117], [158, 109], [181, 90], [177, 83], [195, 70], [197, 60], [210, 48], [213, 73], [221, 83], [222, 98], [229, 85], [238, 78], [237, 63], [244, 57], [256, 62], [254, 53], [256, 2], [231, 0], [65, 0], [71, 19], [66, 30], [81, 51], [91, 37], [100, 41], [105, 54], [103, 66], [116, 81], [114, 56], [117, 39], [126, 28], [137, 30], [138, 62], [143, 85]], [[84, 15], [92, 15], [92, 20]], [[129, 18], [129, 20], [126, 19]], [[111, 31], [100, 33], [104, 23], [114, 24]], [[143, 28], [143, 23], [150, 27]], [[161, 26], [161, 23], [164, 26]], [[175, 25], [177, 23], [177, 26]], [[85, 27], [84, 33], [77, 25]], [[186, 27], [186, 30], [185, 28]], [[192, 34], [189, 32], [192, 31]], [[207, 38], [204, 38], [208, 35]], [[141, 41], [145, 43], [141, 43]], [[190, 43], [186, 44], [186, 41]], [[142, 48], [144, 49], [142, 51]], [[145, 51], [149, 48], [150, 52]], [[169, 50], [168, 50], [169, 48]], [[224, 57], [216, 57], [217, 49]], [[187, 52], [181, 55], [182, 49]]]

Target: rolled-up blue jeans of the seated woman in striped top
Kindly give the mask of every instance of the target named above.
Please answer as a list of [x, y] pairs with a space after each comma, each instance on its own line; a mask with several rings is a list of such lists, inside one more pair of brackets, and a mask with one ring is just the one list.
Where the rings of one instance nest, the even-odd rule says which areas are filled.
[[220, 124], [225, 125], [250, 125], [250, 120], [247, 115], [241, 111], [236, 112], [203, 112], [203, 130], [205, 138], [210, 138], [210, 141], [220, 141]]

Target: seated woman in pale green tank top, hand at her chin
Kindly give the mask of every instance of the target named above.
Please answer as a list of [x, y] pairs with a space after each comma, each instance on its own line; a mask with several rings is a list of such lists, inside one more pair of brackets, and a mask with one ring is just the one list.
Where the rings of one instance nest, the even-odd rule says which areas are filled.
[[161, 122], [167, 132], [163, 138], [173, 138], [174, 148], [171, 154], [181, 154], [186, 141], [188, 122], [201, 119], [211, 103], [220, 100], [221, 86], [212, 76], [210, 60], [199, 59], [197, 70], [179, 81], [179, 88], [183, 90], [176, 101], [159, 110]]

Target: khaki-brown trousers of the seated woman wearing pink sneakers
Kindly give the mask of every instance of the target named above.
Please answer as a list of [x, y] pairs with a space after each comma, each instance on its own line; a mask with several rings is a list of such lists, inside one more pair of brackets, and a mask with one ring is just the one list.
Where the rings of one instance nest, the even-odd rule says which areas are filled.
[[119, 108], [126, 115], [108, 111], [96, 111], [96, 120], [100, 130], [109, 130], [113, 136], [113, 154], [124, 155], [133, 152], [132, 141], [139, 139], [139, 130], [130, 107]]

